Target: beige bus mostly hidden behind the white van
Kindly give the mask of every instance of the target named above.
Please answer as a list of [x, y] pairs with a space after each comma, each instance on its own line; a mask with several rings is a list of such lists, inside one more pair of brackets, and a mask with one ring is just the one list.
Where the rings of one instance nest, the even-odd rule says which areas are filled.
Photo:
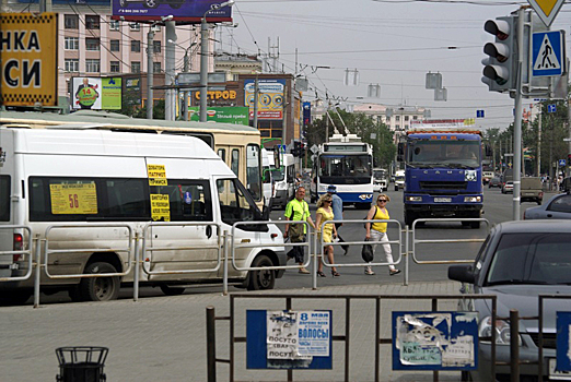
[[67, 127], [196, 136], [212, 147], [232, 169], [240, 181], [246, 186], [256, 205], [260, 210], [264, 206], [260, 133], [259, 130], [252, 127], [231, 123], [149, 120], [94, 110], [78, 110], [70, 115], [2, 111], [0, 112], [0, 126], [38, 129]]

